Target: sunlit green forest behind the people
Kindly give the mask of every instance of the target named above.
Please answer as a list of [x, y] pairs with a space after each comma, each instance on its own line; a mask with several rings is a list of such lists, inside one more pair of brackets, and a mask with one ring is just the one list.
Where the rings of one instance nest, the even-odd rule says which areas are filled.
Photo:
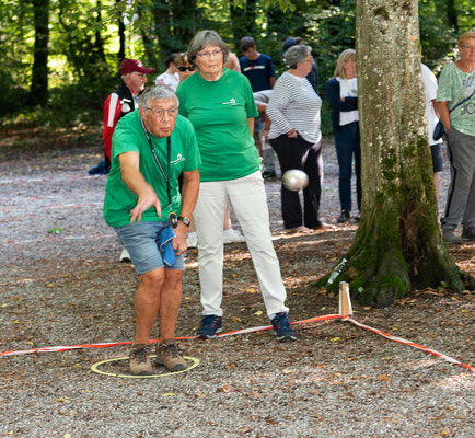
[[[241, 56], [254, 36], [277, 76], [282, 43], [302, 37], [318, 65], [320, 94], [338, 54], [355, 48], [356, 0], [3, 0], [0, 4], [0, 124], [97, 127], [124, 57], [164, 70], [195, 33], [218, 31]], [[453, 59], [456, 38], [475, 26], [471, 0], [419, 1], [422, 62], [437, 74]], [[152, 82], [153, 74], [149, 78]], [[329, 112], [322, 113], [331, 134]]]

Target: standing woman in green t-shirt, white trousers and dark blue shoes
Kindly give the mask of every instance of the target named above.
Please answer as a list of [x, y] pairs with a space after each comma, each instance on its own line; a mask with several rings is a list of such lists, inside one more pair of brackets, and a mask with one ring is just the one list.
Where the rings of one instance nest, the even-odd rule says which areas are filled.
[[202, 160], [194, 212], [204, 306], [197, 335], [213, 338], [222, 331], [222, 222], [229, 197], [244, 232], [277, 339], [294, 341], [271, 242], [259, 155], [252, 136], [258, 112], [247, 78], [223, 67], [228, 54], [228, 46], [215, 31], [195, 35], [188, 47], [188, 61], [198, 71], [177, 89], [179, 113], [195, 127]]

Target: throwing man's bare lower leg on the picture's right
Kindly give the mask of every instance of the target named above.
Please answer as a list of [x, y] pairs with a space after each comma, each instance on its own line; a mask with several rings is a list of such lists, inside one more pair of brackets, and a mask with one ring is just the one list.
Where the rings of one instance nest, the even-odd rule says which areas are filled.
[[183, 270], [165, 269], [165, 283], [160, 299], [160, 339], [175, 338], [176, 320], [182, 302]]

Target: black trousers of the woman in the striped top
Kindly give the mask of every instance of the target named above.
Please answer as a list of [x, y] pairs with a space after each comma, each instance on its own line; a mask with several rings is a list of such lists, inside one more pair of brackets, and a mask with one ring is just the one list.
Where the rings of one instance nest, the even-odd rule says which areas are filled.
[[290, 169], [298, 169], [309, 176], [309, 185], [303, 191], [303, 215], [298, 192], [281, 186], [281, 204], [283, 228], [290, 229], [304, 224], [308, 228], [320, 228], [320, 199], [323, 184], [322, 140], [310, 143], [302, 137], [289, 138], [282, 135], [270, 140], [277, 153], [282, 175]]

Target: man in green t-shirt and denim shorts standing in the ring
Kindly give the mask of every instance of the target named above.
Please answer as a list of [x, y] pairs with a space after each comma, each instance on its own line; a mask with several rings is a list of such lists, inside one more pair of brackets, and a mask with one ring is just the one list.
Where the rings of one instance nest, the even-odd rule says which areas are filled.
[[175, 325], [200, 162], [195, 130], [178, 115], [178, 99], [167, 87], [147, 90], [139, 99], [139, 110], [123, 117], [114, 131], [104, 218], [140, 275], [134, 300], [132, 374], [152, 373], [150, 331], [158, 314], [158, 361], [171, 371], [186, 368], [175, 345]]

